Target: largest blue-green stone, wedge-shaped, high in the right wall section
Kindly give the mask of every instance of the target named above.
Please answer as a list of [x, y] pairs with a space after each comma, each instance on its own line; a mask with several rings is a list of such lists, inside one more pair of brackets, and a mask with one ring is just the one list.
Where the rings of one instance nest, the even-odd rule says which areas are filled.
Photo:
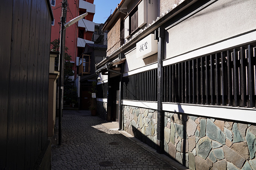
[[226, 136], [224, 132], [222, 132], [210, 119], [207, 119], [206, 135], [212, 140], [225, 144]]

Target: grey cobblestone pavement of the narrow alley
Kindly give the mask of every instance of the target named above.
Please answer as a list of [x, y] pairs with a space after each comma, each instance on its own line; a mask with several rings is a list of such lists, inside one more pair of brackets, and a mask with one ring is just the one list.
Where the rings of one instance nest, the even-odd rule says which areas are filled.
[[[110, 130], [101, 123], [105, 121], [91, 116], [90, 111], [64, 110], [62, 145], [52, 144], [52, 169], [175, 169], [119, 131]], [[55, 134], [58, 139], [58, 129]]]

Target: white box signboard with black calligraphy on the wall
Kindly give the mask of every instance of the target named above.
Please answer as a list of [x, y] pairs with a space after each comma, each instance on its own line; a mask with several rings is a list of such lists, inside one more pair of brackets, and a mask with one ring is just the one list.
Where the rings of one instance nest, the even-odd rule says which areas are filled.
[[150, 34], [136, 43], [137, 58], [144, 59], [155, 53], [157, 53], [157, 40], [154, 39], [154, 34]]

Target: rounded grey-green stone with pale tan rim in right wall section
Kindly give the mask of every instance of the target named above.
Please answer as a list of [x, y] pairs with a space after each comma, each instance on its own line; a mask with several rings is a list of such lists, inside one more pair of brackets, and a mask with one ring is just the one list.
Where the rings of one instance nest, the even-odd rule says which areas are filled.
[[197, 155], [206, 159], [212, 149], [212, 141], [208, 137], [201, 138], [196, 146]]

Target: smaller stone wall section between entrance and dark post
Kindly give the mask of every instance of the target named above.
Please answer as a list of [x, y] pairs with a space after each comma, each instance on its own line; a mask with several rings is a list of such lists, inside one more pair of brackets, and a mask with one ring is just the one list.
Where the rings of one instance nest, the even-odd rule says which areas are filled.
[[155, 148], [157, 141], [157, 111], [123, 106], [124, 130]]

